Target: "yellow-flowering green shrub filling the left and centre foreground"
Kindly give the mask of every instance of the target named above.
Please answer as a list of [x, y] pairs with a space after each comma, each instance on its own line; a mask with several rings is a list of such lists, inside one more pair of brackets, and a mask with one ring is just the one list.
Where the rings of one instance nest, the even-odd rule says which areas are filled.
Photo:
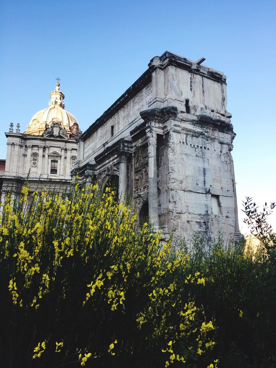
[[63, 196], [28, 185], [18, 202], [6, 195], [1, 367], [205, 367], [216, 358], [203, 354], [212, 319], [176, 279], [187, 255], [148, 224], [137, 233], [135, 214], [113, 195], [79, 183]]

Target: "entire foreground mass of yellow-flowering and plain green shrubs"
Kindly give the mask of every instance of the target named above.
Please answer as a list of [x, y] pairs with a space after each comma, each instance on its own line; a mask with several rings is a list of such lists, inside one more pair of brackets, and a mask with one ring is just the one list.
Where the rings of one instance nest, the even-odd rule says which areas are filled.
[[220, 235], [162, 244], [110, 188], [26, 184], [12, 198], [1, 205], [1, 368], [275, 366], [276, 241], [250, 200], [256, 254]]

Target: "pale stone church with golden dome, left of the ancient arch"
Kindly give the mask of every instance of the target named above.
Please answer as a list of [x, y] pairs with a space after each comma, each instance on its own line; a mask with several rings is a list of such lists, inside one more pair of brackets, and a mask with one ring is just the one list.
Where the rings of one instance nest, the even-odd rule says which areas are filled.
[[30, 190], [38, 190], [46, 182], [63, 192], [71, 183], [70, 172], [77, 160], [77, 141], [81, 133], [76, 118], [64, 109], [64, 94], [56, 84], [50, 93], [49, 106], [32, 118], [24, 133], [13, 123], [6, 132], [7, 155], [1, 175], [3, 193], [13, 186], [15, 194], [21, 192], [29, 173]]

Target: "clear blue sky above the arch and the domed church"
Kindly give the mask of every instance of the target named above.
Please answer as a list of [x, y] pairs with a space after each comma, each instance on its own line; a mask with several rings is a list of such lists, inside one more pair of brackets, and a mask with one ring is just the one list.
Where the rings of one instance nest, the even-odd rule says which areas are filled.
[[1, 1], [0, 158], [9, 123], [25, 131], [58, 76], [84, 131], [169, 50], [227, 75], [239, 209], [245, 195], [276, 202], [275, 10], [269, 0]]

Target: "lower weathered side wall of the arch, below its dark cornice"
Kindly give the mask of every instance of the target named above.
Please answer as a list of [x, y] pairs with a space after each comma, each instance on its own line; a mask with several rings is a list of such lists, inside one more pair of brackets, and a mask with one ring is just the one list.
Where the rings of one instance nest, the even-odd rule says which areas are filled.
[[160, 197], [162, 212], [167, 213], [162, 223], [178, 234], [199, 229], [209, 238], [218, 231], [234, 236], [231, 135], [184, 131], [171, 131], [167, 137], [167, 184], [166, 190], [161, 189], [161, 193], [167, 192], [166, 201], [164, 195]]

